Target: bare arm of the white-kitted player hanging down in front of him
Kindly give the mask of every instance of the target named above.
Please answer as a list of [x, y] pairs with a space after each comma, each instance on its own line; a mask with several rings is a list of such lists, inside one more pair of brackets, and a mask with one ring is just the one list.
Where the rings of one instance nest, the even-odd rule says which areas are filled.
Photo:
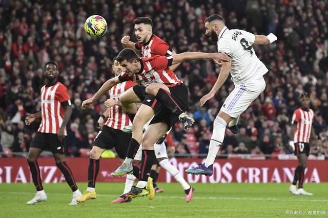
[[216, 92], [219, 90], [219, 88], [221, 88], [221, 86], [224, 84], [224, 82], [226, 82], [230, 71], [231, 71], [231, 58], [229, 58], [229, 61], [222, 61], [222, 68], [219, 74], [219, 77], [217, 78], [213, 88], [211, 89], [211, 91], [204, 95], [201, 99], [200, 99], [200, 106], [203, 106], [208, 100], [212, 99], [214, 97], [214, 95], [216, 94]]

